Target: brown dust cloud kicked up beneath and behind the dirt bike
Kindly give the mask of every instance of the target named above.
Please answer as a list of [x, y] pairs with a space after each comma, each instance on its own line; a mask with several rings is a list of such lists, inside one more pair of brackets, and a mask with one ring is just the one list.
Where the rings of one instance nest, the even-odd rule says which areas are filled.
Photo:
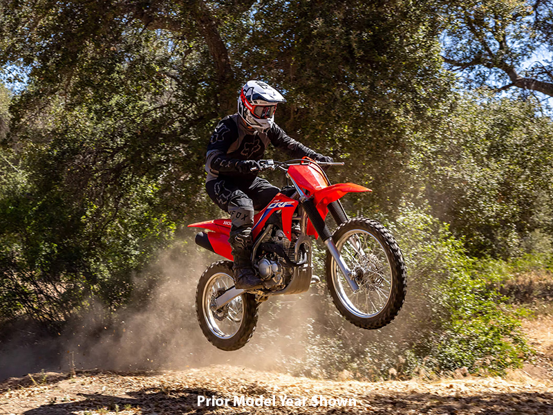
[[[306, 293], [276, 296], [261, 303], [250, 342], [238, 351], [221, 351], [204, 337], [195, 309], [198, 279], [221, 257], [190, 245], [183, 243], [162, 252], [144, 275], [135, 277], [136, 291], [142, 295], [116, 313], [106, 313], [99, 304], [92, 304], [84, 318], [69, 324], [57, 338], [38, 336], [39, 340], [29, 341], [32, 329], [20, 329], [16, 338], [0, 344], [0, 378], [41, 369], [182, 370], [221, 364], [334, 378], [348, 356], [364, 360], [373, 356], [375, 362], [397, 357], [401, 351], [393, 349], [411, 331], [407, 313], [400, 313], [392, 328], [379, 331], [348, 324], [319, 283]], [[156, 284], [147, 286], [152, 281]]]

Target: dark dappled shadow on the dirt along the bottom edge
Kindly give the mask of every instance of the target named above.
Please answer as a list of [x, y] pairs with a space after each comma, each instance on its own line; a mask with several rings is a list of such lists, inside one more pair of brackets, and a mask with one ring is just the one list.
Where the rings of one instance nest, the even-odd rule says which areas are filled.
[[[361, 392], [361, 391], [360, 391]], [[125, 409], [140, 409], [142, 414], [211, 414], [221, 409], [198, 407], [198, 396], [222, 396], [209, 389], [143, 389], [129, 392], [126, 398], [102, 394], [80, 394], [85, 400], [71, 403], [43, 405], [24, 412], [25, 415], [82, 414], [107, 409], [121, 412]], [[256, 396], [252, 396], [256, 397]], [[308, 403], [310, 402], [308, 396]], [[545, 392], [523, 392], [512, 394], [476, 394], [467, 396], [440, 396], [430, 393], [359, 394], [355, 407], [225, 407], [224, 413], [233, 414], [540, 414], [553, 415], [553, 394]]]

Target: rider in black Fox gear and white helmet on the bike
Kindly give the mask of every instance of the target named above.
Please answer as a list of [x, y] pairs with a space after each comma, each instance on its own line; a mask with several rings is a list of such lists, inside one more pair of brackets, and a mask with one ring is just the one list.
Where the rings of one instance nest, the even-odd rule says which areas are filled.
[[274, 111], [284, 97], [265, 82], [248, 81], [238, 97], [238, 113], [223, 118], [212, 134], [205, 169], [209, 197], [231, 217], [229, 243], [234, 257], [236, 288], [252, 290], [263, 283], [252, 268], [254, 210], [262, 210], [279, 193], [257, 173], [266, 165], [263, 158], [269, 142], [292, 158], [308, 156], [332, 162], [293, 140], [274, 123]]

